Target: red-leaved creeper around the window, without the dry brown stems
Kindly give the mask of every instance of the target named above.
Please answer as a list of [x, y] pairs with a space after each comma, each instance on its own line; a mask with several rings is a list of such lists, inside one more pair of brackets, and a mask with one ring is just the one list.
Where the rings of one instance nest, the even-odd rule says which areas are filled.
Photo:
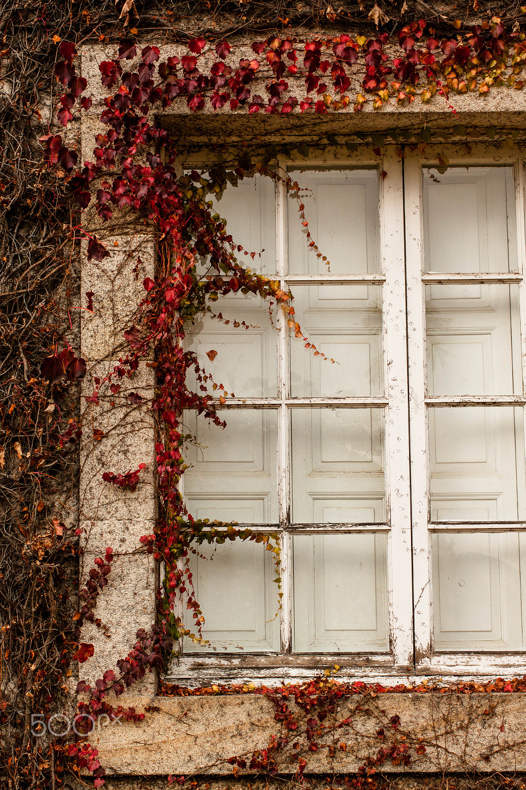
[[[131, 6], [129, 10], [131, 13]], [[94, 9], [90, 13], [95, 13]], [[383, 30], [381, 17], [375, 19], [373, 16], [372, 19], [376, 27], [379, 24]], [[441, 32], [438, 32], [439, 26]], [[415, 98], [426, 102], [434, 93], [451, 100], [452, 94], [456, 92], [483, 95], [490, 88], [500, 85], [523, 88], [520, 73], [526, 59], [526, 47], [520, 28], [515, 26], [509, 29], [509, 25], [506, 28], [504, 22], [491, 15], [480, 24], [466, 25], [453, 20], [446, 26], [449, 32], [444, 36], [444, 23], [438, 17], [435, 27], [415, 19], [408, 24], [400, 22], [400, 30], [390, 34], [378, 32], [371, 35], [367, 32], [367, 35], [351, 36], [338, 33], [330, 37], [312, 36], [302, 40], [284, 30], [279, 35], [254, 40], [247, 47], [230, 43], [226, 38], [216, 43], [207, 42], [204, 36], [196, 35], [190, 39], [186, 48], [181, 47], [179, 55], [168, 58], [164, 63], [160, 62], [157, 47], [147, 46], [137, 51], [133, 40], [126, 38], [118, 46], [118, 56], [100, 64], [101, 81], [110, 92], [100, 114], [107, 126], [107, 133], [97, 137], [93, 161], [78, 170], [77, 150], [70, 141], [67, 127], [77, 119], [77, 110], [89, 111], [92, 98], [85, 95], [88, 89], [85, 77], [76, 72], [77, 51], [73, 43], [68, 43], [67, 28], [62, 32], [63, 40], [56, 36], [61, 59], [55, 66], [55, 76], [65, 88], [59, 100], [58, 122], [65, 127], [65, 133], [47, 134], [42, 141], [44, 157], [49, 166], [46, 176], [57, 182], [56, 194], [62, 197], [65, 191], [67, 193], [67, 200], [60, 205], [70, 207], [69, 221], [66, 215], [62, 217], [62, 224], [71, 228], [70, 239], [64, 241], [65, 249], [68, 244], [74, 244], [87, 236], [88, 258], [103, 261], [107, 257], [101, 231], [90, 232], [88, 227], [82, 229], [76, 220], [78, 210], [87, 209], [90, 204], [96, 206], [100, 220], [107, 224], [113, 223], [118, 227], [121, 212], [128, 211], [139, 220], [144, 218], [152, 222], [160, 237], [158, 271], [152, 280], [145, 280], [145, 295], [138, 306], [137, 320], [124, 335], [129, 352], [110, 375], [95, 381], [95, 389], [88, 396], [88, 401], [95, 405], [108, 391], [118, 396], [119, 382], [123, 378], [131, 378], [141, 363], [149, 359], [148, 354], [152, 349], [155, 351], [156, 397], [151, 403], [145, 402], [143, 405], [144, 408], [152, 408], [157, 418], [159, 436], [156, 464], [163, 507], [156, 532], [145, 536], [143, 544], [145, 551], [150, 551], [157, 559], [164, 559], [167, 575], [159, 600], [158, 621], [150, 630], [137, 634], [133, 649], [118, 661], [118, 675], [113, 669], [108, 669], [94, 688], [80, 684], [78, 690], [87, 695], [79, 705], [81, 713], [107, 713], [110, 717], [123, 713], [125, 719], [140, 719], [144, 714], [110, 705], [108, 694], [115, 693], [118, 697], [125, 687], [133, 685], [148, 670], [162, 668], [171, 656], [174, 640], [185, 632], [197, 630], [194, 635], [199, 637], [202, 613], [192, 594], [188, 567], [183, 565], [183, 570], [180, 570], [178, 566], [178, 559], [185, 559], [188, 552], [193, 550], [193, 545], [198, 547], [203, 541], [209, 540], [260, 540], [276, 555], [273, 536], [253, 534], [250, 530], [239, 530], [233, 525], [211, 526], [206, 522], [195, 521], [186, 513], [178, 494], [177, 483], [185, 467], [182, 457], [184, 438], [179, 430], [182, 410], [194, 409], [217, 425], [222, 422], [209, 392], [216, 382], [199, 367], [195, 356], [185, 352], [182, 347], [184, 334], [193, 318], [206, 310], [218, 295], [229, 292], [257, 293], [282, 310], [291, 330], [303, 337], [301, 328], [295, 322], [290, 295], [280, 291], [278, 282], [258, 276], [240, 263], [239, 255], [243, 252], [248, 254], [248, 250], [239, 249], [235, 240], [229, 238], [223, 221], [209, 205], [209, 198], [221, 194], [228, 184], [235, 185], [239, 179], [254, 175], [255, 172], [272, 179], [286, 179], [289, 191], [298, 198], [307, 238], [311, 246], [315, 247], [307, 218], [303, 214], [299, 185], [272, 167], [272, 152], [263, 152], [261, 157], [245, 152], [232, 165], [218, 165], [207, 173], [192, 171], [182, 179], [178, 178], [175, 171], [177, 143], [152, 120], [155, 112], [167, 109], [174, 101], [182, 101], [193, 112], [212, 107], [214, 112], [241, 114], [248, 111], [250, 115], [261, 112], [324, 115], [329, 111], [350, 110], [351, 107], [358, 112], [367, 103], [378, 108], [389, 100], [397, 104], [410, 103]], [[130, 62], [130, 70], [123, 68], [126, 61]], [[115, 92], [111, 95], [112, 91]], [[327, 139], [329, 144], [336, 141], [336, 138]], [[385, 137], [381, 135], [373, 139], [374, 145], [378, 145], [378, 152], [383, 140]], [[160, 146], [165, 152], [163, 161], [157, 153]], [[317, 250], [317, 254], [322, 257], [321, 250]], [[215, 269], [214, 274], [205, 279], [198, 276], [196, 268], [197, 259], [203, 257], [208, 258]], [[51, 267], [49, 271], [52, 275]], [[92, 310], [92, 295], [90, 297], [88, 292], [83, 296], [83, 308]], [[58, 311], [56, 305], [53, 307], [52, 300], [43, 303], [43, 307], [38, 309], [46, 316], [52, 315], [54, 309]], [[73, 321], [71, 317], [68, 320], [73, 328], [77, 318], [73, 316]], [[308, 338], [304, 338], [304, 341], [309, 344]], [[314, 348], [311, 351], [317, 353]], [[28, 388], [33, 388], [26, 408], [27, 415], [32, 415], [28, 418], [30, 420], [37, 421], [40, 412], [54, 407], [50, 412], [52, 419], [47, 423], [47, 437], [41, 440], [30, 459], [24, 460], [27, 447], [21, 446], [19, 442], [17, 449], [17, 444], [13, 444], [19, 468], [23, 468], [21, 473], [27, 470], [28, 476], [35, 480], [38, 478], [39, 484], [41, 470], [31, 468], [31, 464], [38, 465], [39, 458], [43, 458], [45, 468], [53, 471], [55, 467], [52, 464], [59, 465], [67, 453], [75, 450], [81, 438], [83, 427], [79, 413], [73, 410], [73, 416], [66, 424], [61, 419], [62, 415], [58, 414], [61, 390], [73, 392], [86, 373], [85, 361], [77, 353], [70, 342], [59, 343], [57, 336], [56, 342], [46, 354], [41, 355], [35, 367], [32, 359], [28, 362], [26, 346], [21, 347], [20, 365], [24, 371], [26, 389], [18, 387], [14, 395], [11, 393], [9, 397], [15, 400], [19, 398], [21, 404], [22, 399], [27, 398]], [[190, 368], [195, 369], [201, 382], [198, 392], [186, 388], [186, 371]], [[212, 389], [212, 393], [216, 393], [216, 390]], [[56, 397], [56, 404], [53, 397]], [[141, 396], [135, 397], [137, 400], [134, 404], [141, 404]], [[222, 397], [227, 397], [226, 393]], [[133, 491], [140, 477], [141, 468], [129, 472], [114, 470], [106, 473], [105, 481]], [[36, 513], [42, 510], [41, 506], [44, 507], [43, 500], [37, 497], [32, 502], [31, 518], [36, 518]], [[29, 519], [29, 515], [26, 517]], [[21, 521], [21, 526], [24, 529], [24, 521]], [[74, 559], [78, 551], [74, 538], [63, 539], [67, 532], [62, 521], [54, 518], [51, 537], [32, 532], [28, 546], [36, 558], [46, 558], [47, 566], [50, 565], [51, 555], [57, 558], [56, 564], [59, 566], [61, 555]], [[86, 619], [102, 627], [96, 618], [96, 604], [107, 585], [114, 560], [115, 553], [108, 547], [105, 555], [96, 560], [95, 567], [80, 591], [76, 611], [73, 610], [73, 627], [68, 626], [69, 630], [65, 627], [62, 632], [57, 628], [50, 630], [53, 636], [43, 642], [44, 647], [51, 644], [50, 639], [60, 645], [54, 665], [58, 683], [61, 682], [61, 673], [69, 671], [72, 659], [82, 662], [92, 655], [92, 645], [76, 640], [81, 638], [80, 627]], [[54, 573], [54, 569], [49, 570], [51, 581]], [[47, 578], [45, 583], [51, 584]], [[39, 584], [43, 586], [44, 581]], [[194, 621], [192, 629], [186, 628], [175, 616], [174, 604], [181, 592], [190, 594]], [[67, 615], [62, 612], [66, 600], [60, 596], [57, 596], [58, 603], [57, 600], [53, 602], [52, 596], [50, 600], [49, 616], [57, 619], [60, 610], [61, 617], [67, 619]], [[47, 776], [48, 771], [51, 772], [53, 786], [60, 781], [58, 766], [55, 766], [54, 761], [55, 758], [64, 757], [69, 758], [70, 766], [88, 768], [95, 777], [96, 786], [100, 786], [104, 782], [104, 770], [97, 760], [96, 750], [85, 743], [85, 739], [81, 743], [70, 744], [66, 750], [54, 744], [48, 752], [51, 755], [49, 763], [43, 758], [39, 762], [38, 750], [28, 743], [32, 695], [39, 694], [39, 700], [43, 700], [41, 709], [48, 710], [58, 697], [54, 697], [54, 692], [48, 690], [46, 694], [42, 689], [51, 688], [57, 681], [47, 677], [46, 662], [42, 658], [35, 660], [35, 654], [28, 655], [26, 664], [28, 695], [24, 698], [24, 737], [17, 745], [16, 759], [10, 755], [9, 760], [19, 766], [27, 784], [32, 787], [38, 786], [40, 777]], [[314, 707], [318, 706], [323, 712], [326, 705], [332, 704], [329, 698], [333, 691], [329, 694], [326, 679], [316, 683], [312, 690], [299, 690], [297, 696], [302, 699], [302, 695], [306, 694], [307, 698], [315, 699]], [[337, 684], [334, 688], [337, 688]], [[520, 689], [517, 687], [517, 690]], [[337, 694], [340, 692], [348, 693], [340, 689]], [[291, 691], [291, 694], [294, 696], [296, 693]], [[288, 724], [292, 725], [294, 721], [289, 719], [290, 711], [287, 711], [283, 696], [273, 691], [269, 692], [269, 696], [276, 706], [276, 716], [283, 714], [282, 718], [277, 719], [280, 727], [292, 729]], [[9, 724], [17, 715], [9, 713]], [[312, 752], [315, 750], [310, 747], [317, 743], [316, 730], [312, 722], [309, 724], [306, 721], [305, 726], [306, 749]], [[255, 761], [253, 767], [272, 776], [277, 752], [287, 751], [288, 744], [284, 743], [284, 739], [286, 735], [280, 735], [280, 740], [271, 744], [267, 754], [252, 755], [248, 762]], [[392, 746], [389, 746], [389, 750]], [[400, 746], [403, 746], [401, 741]], [[396, 759], [399, 754], [397, 749], [396, 746], [393, 753], [387, 750], [383, 758], [377, 755], [377, 767], [392, 758]], [[402, 748], [400, 754], [403, 756], [404, 753]], [[297, 760], [295, 770], [298, 777], [302, 776], [305, 768], [302, 759], [298, 757]], [[242, 764], [239, 764], [243, 760], [246, 758], [234, 757], [232, 765], [243, 769]], [[363, 781], [364, 786], [365, 783], [371, 786], [370, 769], [371, 766], [367, 766], [363, 778], [359, 780]]]

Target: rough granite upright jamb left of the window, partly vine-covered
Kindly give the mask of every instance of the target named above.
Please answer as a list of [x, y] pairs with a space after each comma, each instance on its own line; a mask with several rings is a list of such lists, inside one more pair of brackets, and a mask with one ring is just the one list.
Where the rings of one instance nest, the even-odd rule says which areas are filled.
[[[105, 241], [110, 257], [102, 263], [88, 261], [85, 250], [82, 265], [81, 293], [84, 298], [86, 292], [94, 294], [93, 313], [82, 313], [81, 351], [88, 362], [84, 396], [92, 394], [96, 375], [102, 378], [118, 363], [119, 356], [129, 352], [122, 333], [133, 324], [144, 294], [142, 280], [152, 275], [154, 267], [151, 237], [120, 235]], [[142, 261], [138, 265], [137, 256]], [[143, 363], [132, 378], [115, 378], [115, 382], [121, 385], [120, 391], [111, 393], [107, 384], [101, 386], [100, 404], [85, 404], [89, 419], [85, 416], [83, 421], [80, 523], [85, 555], [81, 580], [106, 547], [120, 554], [96, 607], [96, 617], [107, 626], [108, 635], [89, 623], [82, 631], [82, 640], [95, 647], [95, 655], [80, 668], [81, 678], [88, 682], [115, 669], [118, 658], [133, 648], [137, 629], [148, 629], [155, 620], [156, 565], [150, 555], [133, 554], [141, 549], [140, 537], [153, 531], [156, 517], [155, 427], [148, 409], [154, 374]], [[131, 392], [141, 394], [145, 404], [130, 404], [127, 395]], [[148, 466], [134, 492], [102, 480], [103, 472], [133, 471], [141, 463]], [[152, 673], [134, 693], [152, 694], [155, 687]]]

